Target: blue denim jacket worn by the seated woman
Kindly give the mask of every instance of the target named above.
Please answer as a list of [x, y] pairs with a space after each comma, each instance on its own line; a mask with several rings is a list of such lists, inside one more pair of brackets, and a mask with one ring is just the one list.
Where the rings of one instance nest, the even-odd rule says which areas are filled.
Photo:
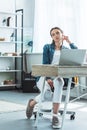
[[[69, 44], [71, 49], [77, 49], [74, 43]], [[61, 49], [68, 49], [65, 46], [62, 46]], [[51, 64], [53, 60], [53, 55], [55, 51], [55, 44], [46, 44], [43, 47], [43, 64]]]

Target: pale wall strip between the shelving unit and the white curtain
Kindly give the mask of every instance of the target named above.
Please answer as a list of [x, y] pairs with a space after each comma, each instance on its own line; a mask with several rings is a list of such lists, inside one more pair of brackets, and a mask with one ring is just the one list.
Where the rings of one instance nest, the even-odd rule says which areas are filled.
[[34, 4], [35, 0], [16, 0], [16, 10], [23, 9], [23, 41], [24, 51], [29, 47], [29, 41], [33, 40], [34, 28]]

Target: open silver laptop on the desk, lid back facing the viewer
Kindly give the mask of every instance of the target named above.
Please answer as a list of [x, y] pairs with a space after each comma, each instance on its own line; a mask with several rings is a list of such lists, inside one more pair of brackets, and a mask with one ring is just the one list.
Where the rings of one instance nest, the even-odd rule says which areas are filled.
[[61, 50], [59, 65], [84, 65], [85, 56], [85, 49], [63, 49]]

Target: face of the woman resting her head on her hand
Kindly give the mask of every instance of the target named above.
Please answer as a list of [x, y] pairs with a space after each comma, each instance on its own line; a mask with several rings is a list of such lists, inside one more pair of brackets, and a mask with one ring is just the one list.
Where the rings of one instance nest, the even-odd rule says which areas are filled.
[[51, 31], [51, 37], [54, 42], [62, 43], [63, 41], [63, 33], [59, 29], [53, 29]]

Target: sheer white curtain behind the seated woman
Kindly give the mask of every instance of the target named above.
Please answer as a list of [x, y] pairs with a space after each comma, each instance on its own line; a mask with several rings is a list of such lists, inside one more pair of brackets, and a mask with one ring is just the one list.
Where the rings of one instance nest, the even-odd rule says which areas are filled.
[[42, 52], [44, 44], [51, 43], [50, 29], [55, 26], [78, 48], [87, 48], [86, 23], [86, 0], [35, 0], [33, 52]]

